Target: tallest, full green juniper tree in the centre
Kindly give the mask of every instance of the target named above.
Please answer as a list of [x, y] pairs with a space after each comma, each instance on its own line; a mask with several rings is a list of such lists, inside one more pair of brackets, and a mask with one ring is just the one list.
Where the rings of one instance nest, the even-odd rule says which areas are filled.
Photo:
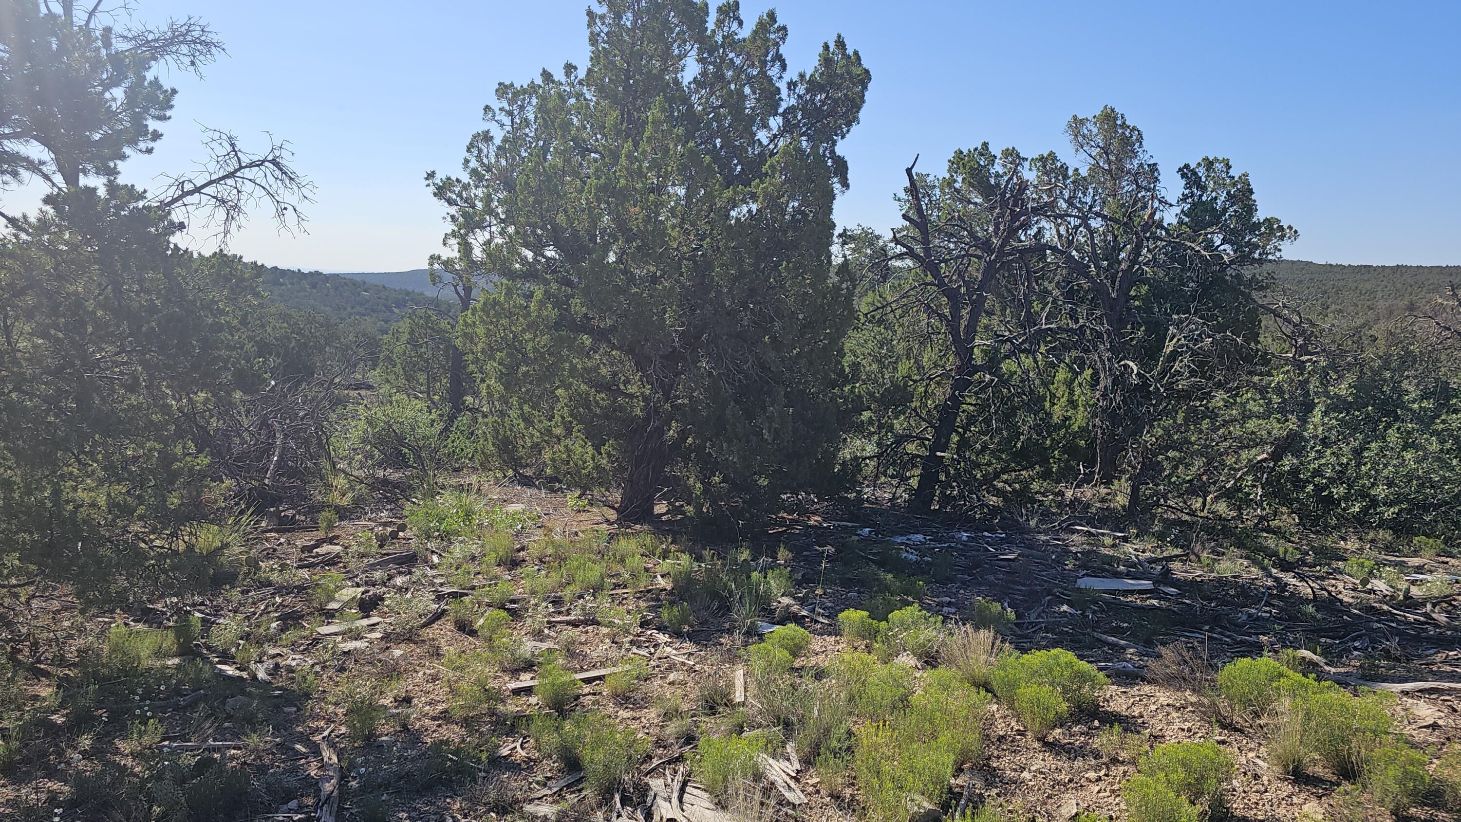
[[434, 266], [536, 293], [581, 342], [549, 356], [593, 359], [628, 413], [570, 420], [625, 520], [669, 477], [710, 504], [830, 473], [850, 317], [830, 253], [837, 145], [869, 73], [837, 38], [789, 76], [785, 41], [773, 12], [747, 29], [733, 1], [712, 22], [704, 3], [608, 0], [586, 72], [501, 85], [465, 174], [430, 177], [456, 248]]

